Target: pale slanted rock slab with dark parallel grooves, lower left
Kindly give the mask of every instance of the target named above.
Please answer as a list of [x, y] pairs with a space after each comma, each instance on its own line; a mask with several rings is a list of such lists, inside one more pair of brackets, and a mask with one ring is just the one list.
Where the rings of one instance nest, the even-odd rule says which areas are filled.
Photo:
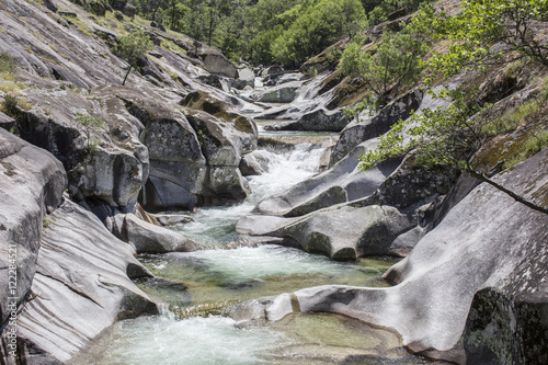
[[150, 273], [92, 213], [66, 201], [47, 219], [32, 294], [18, 318], [19, 352], [28, 364], [66, 363], [116, 321], [158, 313], [128, 277]]

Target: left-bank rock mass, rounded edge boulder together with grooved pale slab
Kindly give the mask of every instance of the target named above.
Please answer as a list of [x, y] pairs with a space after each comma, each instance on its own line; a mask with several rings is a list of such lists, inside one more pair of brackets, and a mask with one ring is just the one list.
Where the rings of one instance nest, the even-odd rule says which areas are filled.
[[157, 312], [129, 280], [150, 276], [132, 247], [90, 212], [60, 205], [67, 178], [58, 160], [0, 129], [0, 170], [2, 363], [14, 361], [13, 304], [18, 355], [28, 364], [66, 362], [115, 321]]

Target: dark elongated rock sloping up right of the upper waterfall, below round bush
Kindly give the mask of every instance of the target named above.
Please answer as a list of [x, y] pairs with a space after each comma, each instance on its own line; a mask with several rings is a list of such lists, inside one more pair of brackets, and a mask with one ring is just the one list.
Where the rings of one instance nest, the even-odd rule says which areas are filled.
[[385, 106], [376, 116], [349, 124], [341, 133], [341, 138], [331, 153], [330, 166], [340, 161], [354, 147], [364, 140], [379, 137], [387, 133], [400, 118], [406, 119], [421, 105], [423, 92], [413, 90]]

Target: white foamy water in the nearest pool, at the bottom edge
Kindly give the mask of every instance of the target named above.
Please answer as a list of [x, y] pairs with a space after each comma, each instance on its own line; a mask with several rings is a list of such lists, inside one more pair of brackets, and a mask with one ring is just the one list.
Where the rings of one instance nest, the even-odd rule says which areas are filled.
[[262, 353], [289, 343], [282, 332], [243, 328], [226, 317], [142, 317], [116, 324], [95, 364], [261, 364]]

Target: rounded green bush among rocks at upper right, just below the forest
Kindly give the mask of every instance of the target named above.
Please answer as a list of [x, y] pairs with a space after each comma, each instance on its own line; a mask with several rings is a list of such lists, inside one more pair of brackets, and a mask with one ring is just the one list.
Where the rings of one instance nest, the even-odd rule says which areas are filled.
[[354, 39], [346, 46], [339, 70], [365, 80], [377, 96], [377, 106], [385, 104], [388, 92], [397, 95], [402, 84], [418, 79], [421, 57], [427, 52], [424, 42], [403, 32], [385, 32], [380, 42], [368, 52], [362, 50], [362, 44]]

